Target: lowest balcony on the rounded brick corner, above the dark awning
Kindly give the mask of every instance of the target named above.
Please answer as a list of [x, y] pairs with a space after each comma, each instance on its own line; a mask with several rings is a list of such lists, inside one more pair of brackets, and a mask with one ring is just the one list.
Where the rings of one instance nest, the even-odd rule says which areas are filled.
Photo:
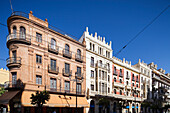
[[6, 90], [8, 90], [8, 89], [23, 89], [24, 84], [19, 80], [15, 81], [15, 82], [7, 81], [7, 82], [4, 83], [4, 88]]

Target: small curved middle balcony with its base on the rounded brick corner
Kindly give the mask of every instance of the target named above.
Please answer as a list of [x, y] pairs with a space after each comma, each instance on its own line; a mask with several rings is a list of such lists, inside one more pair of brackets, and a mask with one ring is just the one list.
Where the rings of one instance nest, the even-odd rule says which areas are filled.
[[19, 67], [21, 66], [21, 57], [10, 57], [6, 60], [7, 67]]

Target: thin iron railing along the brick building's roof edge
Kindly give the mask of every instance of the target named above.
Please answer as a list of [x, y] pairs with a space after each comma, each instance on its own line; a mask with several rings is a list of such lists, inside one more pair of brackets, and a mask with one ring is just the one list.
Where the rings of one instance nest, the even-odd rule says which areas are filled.
[[[20, 11], [15, 11], [15, 12], [13, 12], [13, 13], [11, 14], [11, 16], [22, 16], [22, 17], [25, 17], [25, 18], [28, 18], [28, 19], [29, 19], [29, 14], [24, 13], [24, 12], [20, 12]], [[48, 25], [48, 28], [51, 29], [51, 30], [53, 30], [53, 31], [56, 31], [56, 32], [58, 32], [58, 33], [60, 33], [60, 34], [62, 34], [62, 35], [64, 35], [64, 36], [66, 36], [66, 37], [69, 37], [69, 38], [72, 38], [72, 39], [74, 39], [74, 40], [76, 40], [76, 41], [79, 41], [79, 38], [77, 38], [77, 37], [75, 37], [75, 36], [73, 36], [73, 35], [70, 35], [70, 34], [64, 32], [64, 31], [62, 31], [62, 30], [60, 30], [60, 29], [58, 29], [58, 28], [56, 28], [56, 27], [54, 27], [54, 26], [52, 26], [52, 25]]]

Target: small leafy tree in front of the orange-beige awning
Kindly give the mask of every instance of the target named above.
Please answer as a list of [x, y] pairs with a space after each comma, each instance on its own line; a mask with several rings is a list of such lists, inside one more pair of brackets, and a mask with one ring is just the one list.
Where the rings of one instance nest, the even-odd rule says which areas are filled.
[[41, 112], [43, 104], [50, 99], [50, 94], [47, 91], [36, 91], [35, 94], [31, 94], [31, 104], [37, 105], [39, 111]]

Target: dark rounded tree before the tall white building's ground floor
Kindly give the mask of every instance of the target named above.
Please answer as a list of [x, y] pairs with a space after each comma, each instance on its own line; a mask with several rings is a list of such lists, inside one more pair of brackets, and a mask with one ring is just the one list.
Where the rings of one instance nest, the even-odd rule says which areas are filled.
[[103, 106], [103, 111], [105, 113], [107, 107], [110, 105], [110, 102], [108, 99], [106, 98], [100, 98], [99, 102], [97, 103], [98, 105], [102, 105]]

